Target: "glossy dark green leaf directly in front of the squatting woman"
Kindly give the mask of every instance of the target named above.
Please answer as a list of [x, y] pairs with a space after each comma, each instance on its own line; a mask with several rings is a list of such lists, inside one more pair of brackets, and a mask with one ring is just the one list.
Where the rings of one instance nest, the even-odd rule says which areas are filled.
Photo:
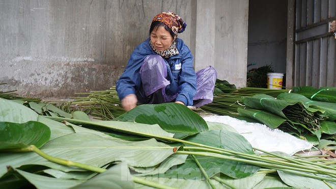
[[178, 139], [208, 131], [201, 116], [177, 103], [140, 105], [114, 120], [158, 124], [163, 130], [175, 133], [174, 138]]

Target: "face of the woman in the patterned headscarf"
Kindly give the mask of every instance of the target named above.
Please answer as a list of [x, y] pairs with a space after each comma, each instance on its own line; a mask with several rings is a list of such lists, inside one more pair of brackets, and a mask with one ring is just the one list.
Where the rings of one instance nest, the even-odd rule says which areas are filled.
[[151, 41], [157, 51], [169, 49], [174, 40], [175, 38], [172, 37], [169, 31], [165, 30], [164, 26], [158, 26], [151, 33]]

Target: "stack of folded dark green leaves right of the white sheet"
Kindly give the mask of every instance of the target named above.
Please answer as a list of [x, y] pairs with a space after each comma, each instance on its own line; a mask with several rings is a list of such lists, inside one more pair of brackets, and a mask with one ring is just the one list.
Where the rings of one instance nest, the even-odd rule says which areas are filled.
[[266, 94], [256, 94], [243, 97], [242, 101], [247, 108], [238, 109], [240, 116], [258, 120], [272, 129], [279, 128], [298, 137], [304, 136], [310, 141], [320, 140], [321, 125], [325, 125], [322, 124], [325, 120], [330, 121], [325, 127], [336, 126], [334, 103], [314, 103], [295, 93], [281, 93], [276, 99]]

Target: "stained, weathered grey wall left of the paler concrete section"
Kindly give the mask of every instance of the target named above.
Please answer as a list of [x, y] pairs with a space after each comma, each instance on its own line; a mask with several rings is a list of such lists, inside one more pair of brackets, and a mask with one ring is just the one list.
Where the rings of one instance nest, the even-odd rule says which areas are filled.
[[[0, 83], [8, 84], [1, 89], [42, 98], [108, 89], [152, 18], [171, 10], [188, 22], [190, 3], [2, 0]], [[187, 44], [190, 31], [179, 36]]]

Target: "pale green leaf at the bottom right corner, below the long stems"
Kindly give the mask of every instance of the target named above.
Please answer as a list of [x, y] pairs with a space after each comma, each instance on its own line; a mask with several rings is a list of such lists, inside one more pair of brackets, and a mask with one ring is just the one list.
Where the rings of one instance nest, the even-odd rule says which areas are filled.
[[[277, 171], [277, 173], [286, 184], [293, 186], [295, 188], [329, 188], [327, 184], [325, 184], [322, 180], [319, 179], [299, 176], [296, 174], [286, 173], [283, 171]], [[331, 185], [331, 187], [333, 188], [336, 187], [336, 182], [327, 181], [327, 183]]]

